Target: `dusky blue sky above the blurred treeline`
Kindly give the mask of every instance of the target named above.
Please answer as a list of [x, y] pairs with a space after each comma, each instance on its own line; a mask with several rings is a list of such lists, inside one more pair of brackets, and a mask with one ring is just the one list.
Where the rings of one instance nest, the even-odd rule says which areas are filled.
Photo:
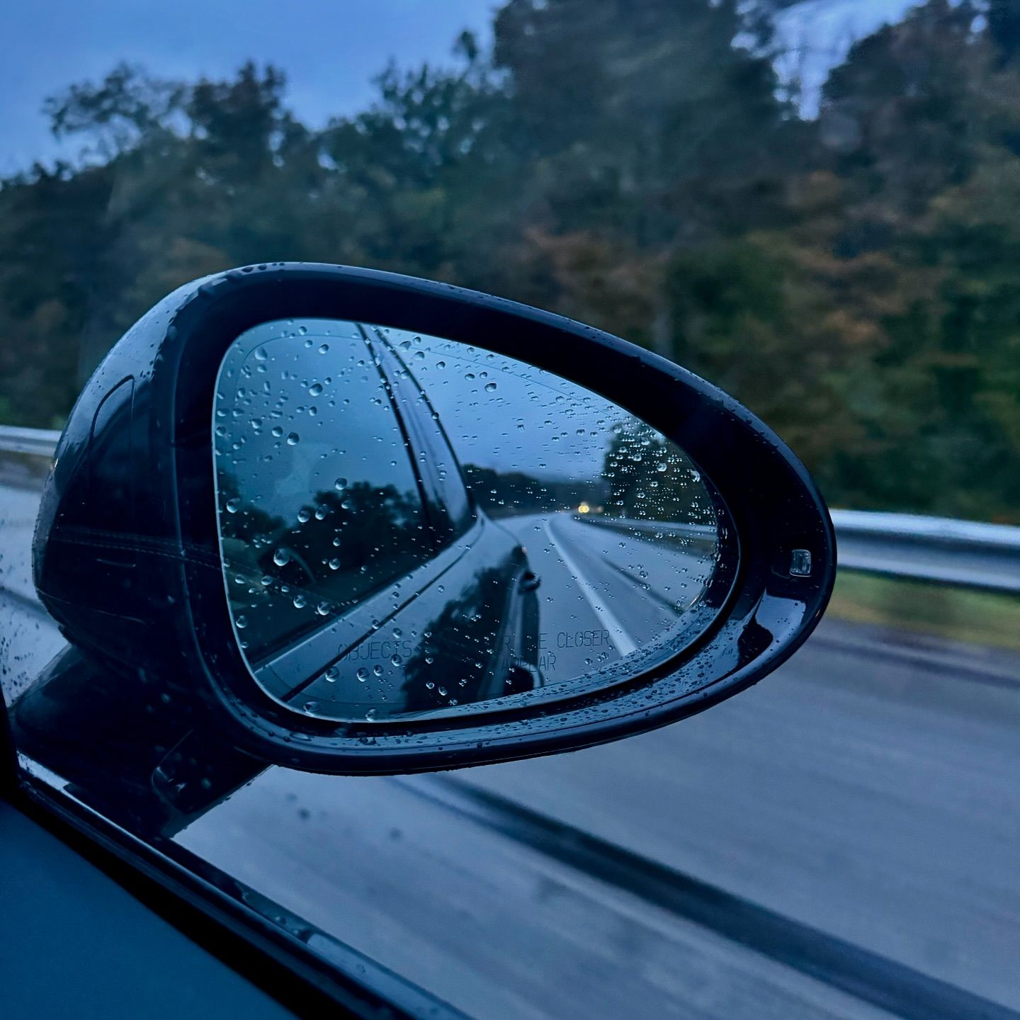
[[[40, 112], [46, 96], [98, 80], [118, 61], [158, 75], [227, 75], [249, 57], [282, 66], [289, 100], [320, 124], [372, 97], [388, 60], [450, 60], [464, 28], [488, 39], [498, 0], [7, 0], [0, 6], [0, 173], [60, 153]], [[910, 0], [806, 0], [782, 36], [807, 55], [817, 87], [854, 36], [899, 16]], [[809, 96], [809, 109], [812, 100]]]

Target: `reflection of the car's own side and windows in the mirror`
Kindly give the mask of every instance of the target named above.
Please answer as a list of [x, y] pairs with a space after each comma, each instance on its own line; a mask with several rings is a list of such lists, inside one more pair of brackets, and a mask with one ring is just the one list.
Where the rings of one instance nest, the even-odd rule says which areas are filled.
[[381, 334], [352, 322], [267, 323], [223, 362], [234, 624], [263, 688], [310, 715], [414, 714], [541, 682], [539, 578], [413, 386]]

